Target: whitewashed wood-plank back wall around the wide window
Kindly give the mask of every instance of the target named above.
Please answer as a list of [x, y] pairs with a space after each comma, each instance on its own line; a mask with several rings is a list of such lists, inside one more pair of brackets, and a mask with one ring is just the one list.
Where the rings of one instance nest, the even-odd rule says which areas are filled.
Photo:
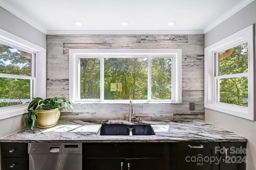
[[[47, 35], [47, 98], [69, 98], [69, 49], [182, 49], [183, 104], [134, 104], [142, 120], [204, 119], [204, 35]], [[189, 110], [189, 103], [195, 110]], [[73, 104], [61, 120], [128, 119], [129, 104]]]

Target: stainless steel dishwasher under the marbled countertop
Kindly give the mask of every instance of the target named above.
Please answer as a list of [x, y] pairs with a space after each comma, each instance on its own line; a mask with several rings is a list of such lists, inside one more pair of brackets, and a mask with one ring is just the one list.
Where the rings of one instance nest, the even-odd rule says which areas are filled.
[[82, 170], [82, 143], [29, 143], [29, 170]]

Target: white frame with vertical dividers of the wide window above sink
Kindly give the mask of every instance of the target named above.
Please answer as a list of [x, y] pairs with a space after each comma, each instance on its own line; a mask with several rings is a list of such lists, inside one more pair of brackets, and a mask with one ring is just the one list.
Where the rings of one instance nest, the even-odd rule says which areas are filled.
[[[127, 56], [133, 57], [170, 57], [173, 56], [173, 100], [135, 100], [135, 102], [182, 102], [182, 50], [181, 49], [70, 49], [69, 50], [69, 62], [70, 62], [70, 101], [71, 102], [104, 102], [104, 103], [126, 103], [128, 100], [102, 100], [102, 95], [104, 89], [102, 89], [102, 85], [104, 85], [104, 76], [102, 75], [102, 71], [100, 74], [100, 83], [101, 83], [101, 93], [100, 93], [100, 100], [80, 100], [79, 99], [79, 58], [81, 56], [90, 56], [93, 57], [104, 57], [115, 58], [115, 56], [122, 56], [124, 58], [128, 58]], [[93, 57], [92, 57], [93, 56]], [[149, 63], [149, 61], [148, 61]], [[150, 66], [150, 65], [148, 65]], [[101, 69], [104, 69], [104, 66], [101, 65]], [[104, 71], [104, 70], [103, 70]], [[148, 74], [149, 74], [148, 70]], [[148, 84], [151, 86], [151, 84]], [[103, 91], [103, 92], [102, 92]], [[148, 94], [150, 95], [150, 94]]]

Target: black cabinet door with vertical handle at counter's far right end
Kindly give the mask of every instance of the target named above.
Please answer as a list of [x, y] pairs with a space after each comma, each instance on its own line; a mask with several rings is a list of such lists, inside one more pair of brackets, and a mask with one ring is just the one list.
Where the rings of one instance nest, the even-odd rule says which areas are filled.
[[220, 143], [220, 170], [246, 170], [246, 142]]

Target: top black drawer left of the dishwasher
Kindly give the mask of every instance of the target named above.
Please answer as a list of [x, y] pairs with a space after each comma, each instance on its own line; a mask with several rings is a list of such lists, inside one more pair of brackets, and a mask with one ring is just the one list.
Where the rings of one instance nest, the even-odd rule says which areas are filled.
[[1, 143], [2, 157], [27, 157], [28, 144], [27, 143]]

